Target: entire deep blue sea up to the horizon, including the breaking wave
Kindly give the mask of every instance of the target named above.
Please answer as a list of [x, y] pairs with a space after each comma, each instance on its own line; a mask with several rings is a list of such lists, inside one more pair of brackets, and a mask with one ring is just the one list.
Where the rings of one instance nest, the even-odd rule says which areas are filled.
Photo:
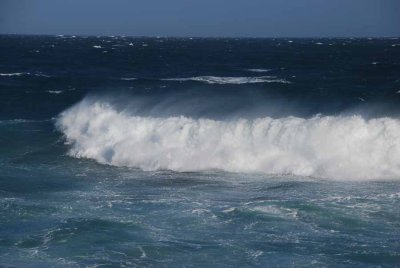
[[0, 266], [399, 267], [400, 39], [0, 35]]

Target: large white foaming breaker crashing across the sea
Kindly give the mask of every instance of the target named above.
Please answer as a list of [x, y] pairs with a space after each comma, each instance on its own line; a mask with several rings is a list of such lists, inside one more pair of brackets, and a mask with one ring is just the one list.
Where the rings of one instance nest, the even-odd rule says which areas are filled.
[[58, 128], [70, 155], [143, 170], [294, 174], [334, 179], [400, 177], [400, 121], [362, 116], [218, 121], [135, 116], [83, 100]]

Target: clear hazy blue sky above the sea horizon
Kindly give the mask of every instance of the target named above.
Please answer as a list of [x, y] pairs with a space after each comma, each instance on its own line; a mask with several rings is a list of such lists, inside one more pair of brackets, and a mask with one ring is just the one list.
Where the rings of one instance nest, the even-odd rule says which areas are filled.
[[1, 34], [400, 36], [400, 0], [0, 0]]

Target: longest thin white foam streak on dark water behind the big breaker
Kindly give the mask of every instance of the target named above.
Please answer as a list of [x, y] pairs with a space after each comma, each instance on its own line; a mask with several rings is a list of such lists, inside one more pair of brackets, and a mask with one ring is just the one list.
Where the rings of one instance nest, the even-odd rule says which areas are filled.
[[185, 78], [165, 78], [164, 81], [196, 81], [207, 84], [255, 84], [255, 83], [290, 83], [287, 80], [276, 78], [275, 76], [258, 76], [258, 77], [220, 77], [220, 76], [195, 76]]

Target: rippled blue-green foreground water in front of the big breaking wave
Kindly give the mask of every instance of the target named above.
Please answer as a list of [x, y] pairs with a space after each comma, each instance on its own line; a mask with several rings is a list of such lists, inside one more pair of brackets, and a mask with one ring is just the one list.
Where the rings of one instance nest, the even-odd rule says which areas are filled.
[[398, 182], [143, 172], [62, 157], [5, 171], [5, 265], [319, 267], [399, 261]]

